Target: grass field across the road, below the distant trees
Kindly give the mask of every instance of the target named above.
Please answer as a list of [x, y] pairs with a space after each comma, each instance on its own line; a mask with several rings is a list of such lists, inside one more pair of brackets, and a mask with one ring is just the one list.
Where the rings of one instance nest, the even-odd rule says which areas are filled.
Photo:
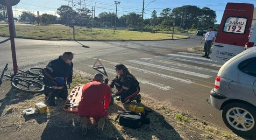
[[[49, 26], [21, 26], [16, 25], [16, 37], [43, 40], [72, 40], [73, 28], [59, 25]], [[0, 36], [9, 36], [9, 28], [0, 25]], [[130, 40], [163, 40], [171, 39], [171, 34], [151, 34], [127, 30], [75, 27], [75, 39], [80, 41], [130, 41]], [[185, 35], [174, 35], [174, 39], [187, 38]]]

